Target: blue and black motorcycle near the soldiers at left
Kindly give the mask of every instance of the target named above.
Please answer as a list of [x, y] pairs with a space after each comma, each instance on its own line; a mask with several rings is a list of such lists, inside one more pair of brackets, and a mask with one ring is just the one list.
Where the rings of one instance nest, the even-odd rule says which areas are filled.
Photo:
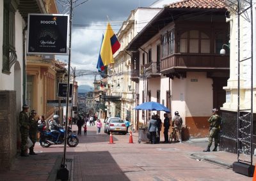
[[[50, 147], [51, 145], [60, 145], [65, 141], [65, 129], [63, 127], [58, 128], [58, 131], [60, 131], [61, 133], [58, 142], [56, 142], [58, 138], [58, 133], [54, 133], [51, 131], [44, 131], [43, 129], [38, 129], [38, 130], [40, 131], [39, 143], [41, 147], [47, 148], [47, 147]], [[68, 126], [67, 145], [69, 147], [76, 147], [78, 143], [79, 143], [79, 140], [76, 134], [73, 134], [71, 127]]]

